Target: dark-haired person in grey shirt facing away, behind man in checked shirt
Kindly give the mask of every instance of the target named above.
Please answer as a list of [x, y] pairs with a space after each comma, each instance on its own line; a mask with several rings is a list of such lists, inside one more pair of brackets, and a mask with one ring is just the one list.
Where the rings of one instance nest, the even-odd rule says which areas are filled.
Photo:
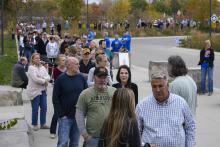
[[169, 76], [174, 78], [169, 85], [170, 92], [183, 97], [196, 116], [197, 86], [195, 81], [187, 75], [188, 69], [184, 60], [180, 56], [170, 56], [167, 71]]

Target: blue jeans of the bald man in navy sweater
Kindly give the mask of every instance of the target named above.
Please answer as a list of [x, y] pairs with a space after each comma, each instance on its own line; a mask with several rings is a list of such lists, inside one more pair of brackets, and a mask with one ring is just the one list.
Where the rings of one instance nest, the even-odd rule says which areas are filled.
[[80, 134], [76, 120], [65, 117], [59, 118], [58, 123], [57, 147], [78, 147]]

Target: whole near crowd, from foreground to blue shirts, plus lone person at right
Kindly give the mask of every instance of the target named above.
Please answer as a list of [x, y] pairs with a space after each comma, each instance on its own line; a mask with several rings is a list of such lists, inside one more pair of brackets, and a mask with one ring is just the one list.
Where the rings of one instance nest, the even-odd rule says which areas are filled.
[[[197, 86], [180, 56], [168, 58], [167, 71], [174, 80], [168, 83], [165, 73], [153, 73], [153, 95], [139, 102], [138, 85], [131, 81], [128, 65], [119, 67], [117, 83], [113, 83], [114, 58], [122, 49], [131, 51], [128, 32], [122, 39], [115, 35], [113, 41], [104, 32], [97, 45], [90, 32], [86, 36], [65, 34], [61, 39], [45, 31], [18, 31], [21, 57], [13, 69], [21, 77], [13, 73], [13, 85], [27, 88], [34, 131], [50, 129], [50, 137], [58, 137], [57, 147], [78, 147], [80, 135], [85, 147], [195, 146]], [[206, 92], [205, 74], [209, 75], [209, 95], [213, 61], [211, 43], [206, 41], [199, 64], [202, 93]], [[50, 127], [46, 125], [49, 83], [54, 106]]]

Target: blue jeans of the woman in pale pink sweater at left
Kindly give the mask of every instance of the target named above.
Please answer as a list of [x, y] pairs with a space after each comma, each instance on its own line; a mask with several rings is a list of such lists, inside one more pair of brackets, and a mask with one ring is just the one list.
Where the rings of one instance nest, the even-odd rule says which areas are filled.
[[47, 94], [42, 91], [41, 95], [36, 96], [31, 100], [32, 106], [32, 125], [38, 125], [38, 109], [40, 106], [40, 124], [46, 124], [46, 113], [47, 113]]

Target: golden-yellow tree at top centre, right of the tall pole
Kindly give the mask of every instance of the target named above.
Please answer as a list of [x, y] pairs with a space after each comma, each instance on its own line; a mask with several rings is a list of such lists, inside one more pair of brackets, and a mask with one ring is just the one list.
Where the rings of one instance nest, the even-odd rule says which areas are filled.
[[114, 22], [122, 22], [128, 18], [130, 10], [129, 0], [115, 0], [108, 11], [108, 17]]

